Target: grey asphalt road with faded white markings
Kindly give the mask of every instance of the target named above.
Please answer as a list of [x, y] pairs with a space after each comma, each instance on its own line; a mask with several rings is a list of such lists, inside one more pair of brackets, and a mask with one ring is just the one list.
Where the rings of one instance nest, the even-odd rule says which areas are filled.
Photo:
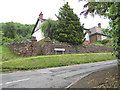
[[2, 74], [2, 88], [65, 88], [86, 75], [117, 65], [117, 60]]

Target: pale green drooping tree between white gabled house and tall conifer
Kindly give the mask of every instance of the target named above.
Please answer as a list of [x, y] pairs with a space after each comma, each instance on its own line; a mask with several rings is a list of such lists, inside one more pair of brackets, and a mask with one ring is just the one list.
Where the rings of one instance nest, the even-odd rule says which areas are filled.
[[51, 40], [55, 38], [55, 31], [57, 30], [57, 21], [48, 19], [42, 25], [41, 29], [45, 38], [49, 37]]

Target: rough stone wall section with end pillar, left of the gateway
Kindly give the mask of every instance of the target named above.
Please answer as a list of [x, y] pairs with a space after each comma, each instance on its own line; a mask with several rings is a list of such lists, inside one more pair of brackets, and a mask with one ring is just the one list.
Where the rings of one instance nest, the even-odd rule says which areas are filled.
[[8, 44], [8, 47], [13, 52], [22, 57], [36, 56], [37, 55], [37, 40], [32, 37], [30, 41], [13, 42]]

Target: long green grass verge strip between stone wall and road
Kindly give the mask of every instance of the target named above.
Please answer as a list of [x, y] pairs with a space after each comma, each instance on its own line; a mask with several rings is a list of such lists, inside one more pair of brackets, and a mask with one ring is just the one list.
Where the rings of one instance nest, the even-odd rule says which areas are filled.
[[116, 59], [116, 57], [112, 56], [111, 53], [62, 54], [18, 58], [3, 61], [0, 65], [2, 65], [3, 72], [8, 72], [84, 64], [114, 59]]

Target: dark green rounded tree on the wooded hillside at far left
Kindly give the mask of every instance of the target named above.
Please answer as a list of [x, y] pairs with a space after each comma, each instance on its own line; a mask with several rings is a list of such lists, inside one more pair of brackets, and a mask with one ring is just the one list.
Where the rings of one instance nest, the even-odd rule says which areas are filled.
[[15, 38], [16, 31], [17, 29], [13, 22], [7, 22], [3, 28], [4, 36], [8, 38]]

